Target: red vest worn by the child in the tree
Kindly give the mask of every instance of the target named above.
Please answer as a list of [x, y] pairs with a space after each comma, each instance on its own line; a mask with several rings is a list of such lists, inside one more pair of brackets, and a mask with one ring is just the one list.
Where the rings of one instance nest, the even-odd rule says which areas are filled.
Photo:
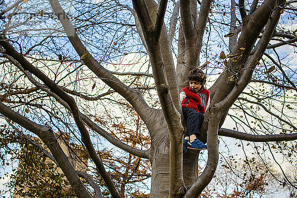
[[202, 87], [199, 92], [194, 93], [189, 86], [182, 89], [182, 91], [187, 96], [182, 101], [182, 107], [193, 108], [197, 112], [204, 114], [209, 99], [209, 91]]

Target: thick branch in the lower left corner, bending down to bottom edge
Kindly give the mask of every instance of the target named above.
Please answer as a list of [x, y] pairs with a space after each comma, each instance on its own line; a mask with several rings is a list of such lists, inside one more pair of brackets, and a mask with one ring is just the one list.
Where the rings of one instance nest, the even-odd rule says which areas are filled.
[[76, 195], [79, 198], [92, 198], [84, 187], [82, 181], [79, 179], [79, 176], [71, 166], [68, 157], [58, 144], [51, 129], [46, 126], [36, 124], [28, 118], [25, 118], [22, 115], [12, 111], [2, 102], [0, 102], [0, 113], [25, 129], [36, 134], [48, 146], [50, 152], [56, 159], [59, 167], [62, 169]]

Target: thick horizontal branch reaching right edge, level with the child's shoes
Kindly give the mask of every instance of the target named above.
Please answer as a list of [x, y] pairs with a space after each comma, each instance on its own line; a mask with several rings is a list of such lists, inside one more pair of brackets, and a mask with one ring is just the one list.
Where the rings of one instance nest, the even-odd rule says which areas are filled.
[[252, 135], [231, 129], [221, 128], [219, 130], [219, 136], [225, 136], [229, 138], [236, 138], [239, 140], [245, 140], [250, 142], [280, 142], [280, 141], [294, 141], [297, 140], [297, 133], [293, 134], [276, 134], [276, 135]]

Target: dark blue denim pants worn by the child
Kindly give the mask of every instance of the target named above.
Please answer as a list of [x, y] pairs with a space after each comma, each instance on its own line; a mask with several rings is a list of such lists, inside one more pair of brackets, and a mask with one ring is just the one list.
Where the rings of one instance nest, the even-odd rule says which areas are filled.
[[197, 112], [192, 108], [182, 108], [182, 109], [183, 109], [184, 118], [187, 121], [187, 128], [188, 128], [188, 132], [185, 134], [185, 136], [187, 137], [193, 134], [198, 136], [200, 134], [200, 127], [203, 122], [203, 114], [200, 112]]

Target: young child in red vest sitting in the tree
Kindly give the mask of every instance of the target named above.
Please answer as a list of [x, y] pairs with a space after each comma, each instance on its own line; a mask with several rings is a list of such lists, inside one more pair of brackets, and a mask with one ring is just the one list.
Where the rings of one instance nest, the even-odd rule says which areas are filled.
[[188, 132], [183, 141], [183, 150], [187, 152], [187, 148], [203, 150], [206, 149], [198, 135], [200, 134], [200, 126], [203, 122], [203, 114], [209, 99], [209, 91], [204, 88], [206, 83], [206, 75], [198, 68], [190, 71], [188, 75], [190, 86], [182, 89], [180, 99], [184, 118], [187, 121]]

